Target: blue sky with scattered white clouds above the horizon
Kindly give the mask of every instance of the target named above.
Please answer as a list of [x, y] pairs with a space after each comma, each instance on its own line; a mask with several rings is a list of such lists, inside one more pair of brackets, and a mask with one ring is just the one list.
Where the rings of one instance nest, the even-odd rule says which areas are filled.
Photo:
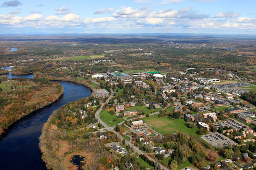
[[1, 0], [0, 34], [256, 34], [256, 0]]

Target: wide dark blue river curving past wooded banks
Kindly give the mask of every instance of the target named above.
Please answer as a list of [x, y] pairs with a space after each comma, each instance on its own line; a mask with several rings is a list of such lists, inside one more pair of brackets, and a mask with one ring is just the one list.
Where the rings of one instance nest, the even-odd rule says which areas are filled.
[[[9, 78], [32, 78], [33, 75], [12, 75]], [[68, 102], [91, 95], [90, 88], [73, 82], [56, 81], [64, 94], [52, 104], [39, 109], [15, 122], [0, 141], [0, 166], [3, 170], [46, 170], [38, 147], [38, 137], [49, 115]]]

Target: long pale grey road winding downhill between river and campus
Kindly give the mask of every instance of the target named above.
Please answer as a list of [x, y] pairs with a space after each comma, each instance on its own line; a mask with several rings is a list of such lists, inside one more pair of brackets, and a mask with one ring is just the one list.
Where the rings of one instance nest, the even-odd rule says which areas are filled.
[[[114, 92], [113, 92], [112, 89], [111, 89], [111, 95], [108, 97], [108, 99], [105, 101], [105, 103], [108, 103], [108, 102], [109, 102], [109, 100], [113, 97], [113, 94], [114, 94]], [[103, 105], [105, 105], [105, 103], [103, 103]], [[106, 128], [106, 130], [115, 133], [116, 136], [117, 136], [119, 139], [123, 140], [123, 137], [122, 137], [119, 133], [117, 133], [117, 132], [113, 129], [113, 127], [109, 127], [107, 124], [105, 124], [105, 122], [103, 122], [103, 121], [99, 118], [99, 113], [102, 111], [103, 105], [99, 108], [98, 111], [96, 111], [96, 114], [95, 114], [96, 119], [98, 120], [98, 122], [100, 122], [100, 124], [102, 124], [102, 125]], [[156, 113], [157, 113], [157, 112], [156, 112]], [[156, 113], [155, 113], [155, 114], [156, 114]], [[153, 113], [152, 113], [152, 114], [153, 114]], [[147, 156], [148, 159], [151, 160], [151, 161], [154, 161], [154, 162], [156, 161], [155, 159], [151, 158], [151, 157], [148, 156], [146, 153], [144, 153], [144, 151], [142, 151], [142, 150], [140, 150], [139, 148], [135, 147], [130, 141], [127, 141], [127, 140], [125, 140], [125, 141], [126, 141], [125, 144], [127, 144], [127, 145], [129, 144], [130, 146], [132, 146], [134, 152], [138, 153], [139, 155], [140, 155], [140, 154], [143, 154], [143, 155]], [[161, 168], [164, 169], [164, 170], [169, 170], [167, 167], [163, 166], [162, 164], [161, 164]]]

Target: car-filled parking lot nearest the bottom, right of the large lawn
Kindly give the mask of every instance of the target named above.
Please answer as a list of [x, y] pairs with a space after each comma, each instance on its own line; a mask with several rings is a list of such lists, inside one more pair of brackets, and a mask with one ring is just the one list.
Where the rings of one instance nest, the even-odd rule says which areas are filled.
[[229, 139], [227, 136], [224, 136], [218, 132], [208, 134], [208, 135], [203, 135], [201, 136], [201, 138], [216, 148], [236, 144], [236, 142], [234, 142], [233, 140]]

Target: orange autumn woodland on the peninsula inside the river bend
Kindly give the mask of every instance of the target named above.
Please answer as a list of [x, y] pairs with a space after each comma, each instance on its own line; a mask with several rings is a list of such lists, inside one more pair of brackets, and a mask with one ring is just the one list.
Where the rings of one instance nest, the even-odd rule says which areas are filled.
[[[16, 85], [14, 85], [9, 91], [0, 92], [0, 135], [12, 123], [39, 108], [49, 105], [63, 94], [62, 85], [47, 79], [13, 78], [12, 80], [19, 81], [22, 87], [17, 85], [16, 88]], [[26, 86], [31, 83], [35, 83], [35, 85]]]

